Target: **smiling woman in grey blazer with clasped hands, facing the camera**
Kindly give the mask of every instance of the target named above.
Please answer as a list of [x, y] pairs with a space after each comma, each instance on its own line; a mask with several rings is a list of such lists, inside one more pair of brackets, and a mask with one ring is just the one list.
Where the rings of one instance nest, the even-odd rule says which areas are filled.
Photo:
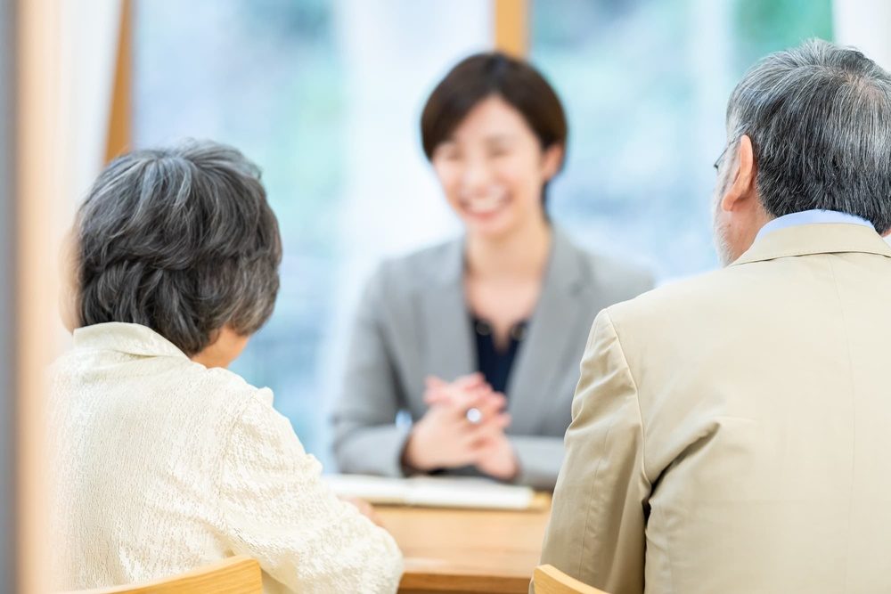
[[369, 282], [335, 411], [342, 470], [553, 488], [593, 315], [650, 288], [548, 220], [567, 134], [551, 85], [503, 53], [470, 56], [434, 89], [422, 143], [464, 235]]

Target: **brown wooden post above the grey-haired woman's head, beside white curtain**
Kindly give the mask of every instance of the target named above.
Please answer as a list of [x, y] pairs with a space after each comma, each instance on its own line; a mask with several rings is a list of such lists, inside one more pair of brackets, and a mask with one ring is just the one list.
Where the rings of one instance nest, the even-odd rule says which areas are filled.
[[120, 10], [118, 52], [109, 111], [105, 162], [130, 150], [133, 143], [133, 2], [123, 0]]

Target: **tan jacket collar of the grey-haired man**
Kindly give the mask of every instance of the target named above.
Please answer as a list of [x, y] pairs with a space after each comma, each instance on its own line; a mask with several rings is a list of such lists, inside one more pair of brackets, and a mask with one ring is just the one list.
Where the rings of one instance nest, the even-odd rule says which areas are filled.
[[870, 227], [859, 224], [802, 224], [767, 233], [731, 264], [781, 257], [862, 252], [891, 257], [891, 246]]

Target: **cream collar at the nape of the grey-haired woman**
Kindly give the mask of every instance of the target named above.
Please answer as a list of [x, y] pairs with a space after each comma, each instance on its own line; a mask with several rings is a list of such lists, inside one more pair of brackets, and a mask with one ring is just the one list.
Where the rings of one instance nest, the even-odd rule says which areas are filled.
[[151, 328], [119, 321], [74, 330], [74, 347], [118, 351], [143, 357], [187, 358], [183, 351]]

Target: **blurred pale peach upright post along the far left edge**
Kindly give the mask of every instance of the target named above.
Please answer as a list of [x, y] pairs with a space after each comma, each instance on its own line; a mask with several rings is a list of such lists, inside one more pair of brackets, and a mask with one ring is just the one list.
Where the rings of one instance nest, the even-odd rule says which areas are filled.
[[44, 403], [58, 354], [61, 217], [69, 212], [58, 0], [17, 0], [15, 106], [16, 589], [46, 591]]

